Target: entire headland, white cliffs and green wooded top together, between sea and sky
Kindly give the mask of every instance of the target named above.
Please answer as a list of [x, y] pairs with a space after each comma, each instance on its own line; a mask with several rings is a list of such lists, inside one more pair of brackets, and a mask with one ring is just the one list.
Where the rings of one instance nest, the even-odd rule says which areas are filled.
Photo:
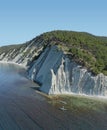
[[15, 46], [1, 47], [0, 60], [28, 67], [29, 77], [48, 94], [107, 95], [107, 38], [52, 31]]

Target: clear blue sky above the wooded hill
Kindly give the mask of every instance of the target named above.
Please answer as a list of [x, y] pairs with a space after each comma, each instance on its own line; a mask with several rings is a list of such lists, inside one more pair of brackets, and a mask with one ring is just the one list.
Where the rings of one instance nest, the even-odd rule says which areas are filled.
[[0, 0], [0, 46], [52, 30], [107, 36], [107, 0]]

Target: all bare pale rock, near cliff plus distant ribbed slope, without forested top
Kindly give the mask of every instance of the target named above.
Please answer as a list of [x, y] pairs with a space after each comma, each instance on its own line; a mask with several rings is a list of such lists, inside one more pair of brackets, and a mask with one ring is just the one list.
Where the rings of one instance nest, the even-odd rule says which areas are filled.
[[57, 45], [36, 38], [20, 47], [1, 50], [0, 60], [27, 66], [29, 78], [47, 94], [107, 95], [107, 76], [92, 75]]

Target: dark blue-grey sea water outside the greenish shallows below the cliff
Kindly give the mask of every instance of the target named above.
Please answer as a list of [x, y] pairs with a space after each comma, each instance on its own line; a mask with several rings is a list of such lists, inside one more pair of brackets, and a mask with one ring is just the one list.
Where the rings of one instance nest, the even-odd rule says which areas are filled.
[[107, 113], [61, 111], [22, 72], [0, 66], [0, 130], [107, 130]]

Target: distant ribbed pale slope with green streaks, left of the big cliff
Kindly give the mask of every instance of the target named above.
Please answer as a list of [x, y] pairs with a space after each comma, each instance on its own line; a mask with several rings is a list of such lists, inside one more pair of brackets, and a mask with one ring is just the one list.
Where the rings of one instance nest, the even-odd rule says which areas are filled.
[[41, 53], [42, 49], [43, 43], [36, 39], [14, 47], [1, 47], [0, 60], [28, 66]]

